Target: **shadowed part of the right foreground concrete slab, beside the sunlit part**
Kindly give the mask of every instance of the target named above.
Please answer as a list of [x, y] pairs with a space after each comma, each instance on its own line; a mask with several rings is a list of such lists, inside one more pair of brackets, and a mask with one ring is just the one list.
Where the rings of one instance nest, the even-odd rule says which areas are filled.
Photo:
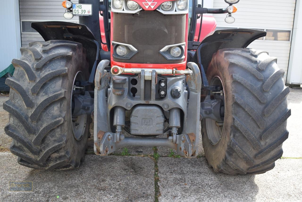
[[159, 201], [253, 201], [254, 175], [214, 173], [205, 158], [160, 158]]

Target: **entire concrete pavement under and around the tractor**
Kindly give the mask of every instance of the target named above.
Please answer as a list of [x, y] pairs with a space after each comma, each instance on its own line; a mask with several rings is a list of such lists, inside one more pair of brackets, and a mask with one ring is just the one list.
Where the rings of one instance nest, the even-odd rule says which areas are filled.
[[[302, 198], [302, 90], [291, 89], [288, 105], [289, 138], [283, 158], [273, 170], [261, 175], [230, 176], [214, 173], [201, 158], [169, 158], [170, 150], [129, 147], [130, 155], [86, 155], [81, 168], [73, 171], [41, 171], [19, 165], [6, 152], [11, 138], [5, 135], [8, 113], [0, 96], [0, 201], [301, 201]], [[154, 175], [156, 173], [156, 181]], [[11, 192], [9, 181], [33, 181], [32, 192]], [[59, 198], [57, 198], [59, 196]]]

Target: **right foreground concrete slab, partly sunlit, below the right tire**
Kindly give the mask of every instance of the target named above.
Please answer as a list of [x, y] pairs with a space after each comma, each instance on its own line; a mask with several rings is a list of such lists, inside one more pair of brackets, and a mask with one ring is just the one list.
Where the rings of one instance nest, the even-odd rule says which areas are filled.
[[159, 201], [299, 201], [302, 159], [279, 159], [261, 175], [214, 173], [205, 158], [159, 158]]

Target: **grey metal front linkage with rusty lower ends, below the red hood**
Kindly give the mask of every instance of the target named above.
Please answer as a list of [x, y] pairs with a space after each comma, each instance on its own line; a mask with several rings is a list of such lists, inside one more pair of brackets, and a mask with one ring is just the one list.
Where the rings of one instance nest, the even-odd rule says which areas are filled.
[[[165, 146], [184, 157], [196, 157], [201, 95], [198, 66], [190, 62], [191, 70], [165, 77], [161, 75], [165, 69], [136, 69], [140, 73], [118, 75], [131, 69], [117, 67], [108, 73], [105, 70], [108, 64], [108, 60], [102, 60], [95, 75], [95, 154], [105, 156], [125, 146]], [[121, 132], [127, 110], [131, 113], [131, 134], [145, 137], [164, 133], [164, 117], [169, 112], [168, 137], [125, 137]]]

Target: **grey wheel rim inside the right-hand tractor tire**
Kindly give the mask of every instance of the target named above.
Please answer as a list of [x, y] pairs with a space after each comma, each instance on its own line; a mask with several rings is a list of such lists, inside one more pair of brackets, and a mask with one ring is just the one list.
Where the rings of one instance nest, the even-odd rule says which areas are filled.
[[[223, 87], [223, 83], [222, 83], [220, 77], [215, 76], [211, 80], [210, 85], [211, 86], [222, 86], [223, 90], [221, 92], [223, 92], [223, 101], [225, 103], [224, 87]], [[210, 95], [212, 95], [212, 94], [213, 94], [213, 92], [211, 91]], [[221, 94], [220, 94], [220, 96], [221, 96]], [[224, 104], [221, 107], [223, 107], [223, 112], [220, 111], [220, 114], [222, 114], [221, 116], [224, 117]], [[208, 139], [209, 139], [209, 141], [212, 145], [217, 145], [218, 144], [218, 142], [221, 138], [221, 134], [223, 132], [223, 125], [224, 125], [224, 121], [221, 122], [221, 123], [218, 123], [213, 119], [205, 119], [205, 126], [206, 126], [207, 136], [208, 136]]]

